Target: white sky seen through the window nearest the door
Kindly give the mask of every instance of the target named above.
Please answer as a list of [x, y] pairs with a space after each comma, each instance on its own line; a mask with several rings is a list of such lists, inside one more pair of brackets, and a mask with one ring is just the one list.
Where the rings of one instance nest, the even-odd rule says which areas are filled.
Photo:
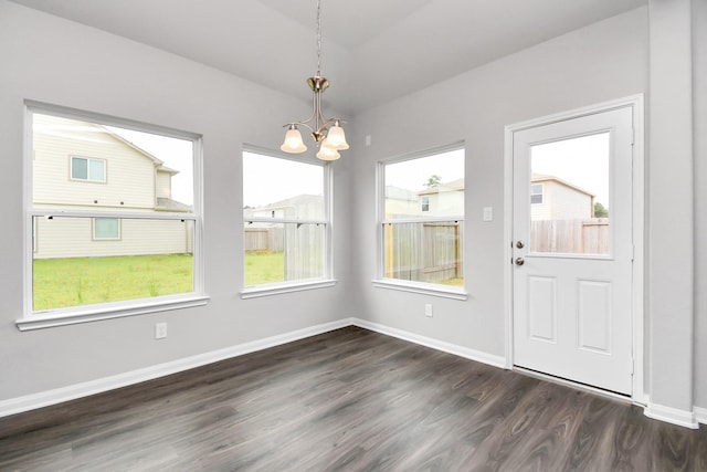
[[425, 189], [428, 179], [440, 176], [442, 183], [464, 178], [464, 149], [435, 154], [386, 166], [386, 185], [412, 191]]

